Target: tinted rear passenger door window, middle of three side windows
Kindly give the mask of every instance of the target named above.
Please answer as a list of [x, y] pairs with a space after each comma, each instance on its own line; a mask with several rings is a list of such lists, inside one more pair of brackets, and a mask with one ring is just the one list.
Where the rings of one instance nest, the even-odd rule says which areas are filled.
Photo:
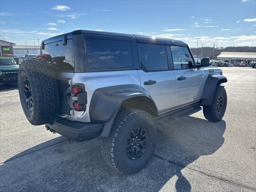
[[168, 70], [166, 46], [139, 44], [140, 62], [145, 71]]

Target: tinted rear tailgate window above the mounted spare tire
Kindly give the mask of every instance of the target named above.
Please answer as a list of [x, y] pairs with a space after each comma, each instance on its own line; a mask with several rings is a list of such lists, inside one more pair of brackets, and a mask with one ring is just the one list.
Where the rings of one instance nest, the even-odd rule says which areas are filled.
[[52, 57], [52, 68], [59, 71], [74, 71], [74, 40], [68, 39], [66, 45], [62, 41], [46, 44], [42, 54]]

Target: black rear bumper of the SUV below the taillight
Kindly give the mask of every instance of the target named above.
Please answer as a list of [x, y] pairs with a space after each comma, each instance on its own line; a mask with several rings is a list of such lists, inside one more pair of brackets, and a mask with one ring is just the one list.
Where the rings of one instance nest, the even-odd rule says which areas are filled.
[[103, 130], [104, 123], [84, 123], [61, 118], [46, 126], [69, 139], [82, 142], [98, 137]]

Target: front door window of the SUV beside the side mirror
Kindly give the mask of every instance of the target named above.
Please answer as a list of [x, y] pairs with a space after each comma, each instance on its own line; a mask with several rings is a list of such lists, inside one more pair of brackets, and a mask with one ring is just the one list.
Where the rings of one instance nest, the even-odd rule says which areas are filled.
[[170, 46], [174, 69], [194, 68], [194, 62], [187, 47]]

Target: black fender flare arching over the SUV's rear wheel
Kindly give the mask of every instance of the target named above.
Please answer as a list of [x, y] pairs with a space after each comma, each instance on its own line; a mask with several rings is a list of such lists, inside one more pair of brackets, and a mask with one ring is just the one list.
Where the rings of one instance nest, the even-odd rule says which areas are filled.
[[[131, 99], [131, 100], [130, 100]], [[137, 100], [136, 104], [145, 106], [144, 110], [152, 116], [158, 116], [158, 109], [150, 94], [141, 86], [126, 84], [98, 88], [94, 91], [90, 102], [89, 114], [91, 122], [104, 122], [104, 128], [99, 137], [107, 137], [123, 102]], [[139, 101], [139, 102], [138, 102]]]

